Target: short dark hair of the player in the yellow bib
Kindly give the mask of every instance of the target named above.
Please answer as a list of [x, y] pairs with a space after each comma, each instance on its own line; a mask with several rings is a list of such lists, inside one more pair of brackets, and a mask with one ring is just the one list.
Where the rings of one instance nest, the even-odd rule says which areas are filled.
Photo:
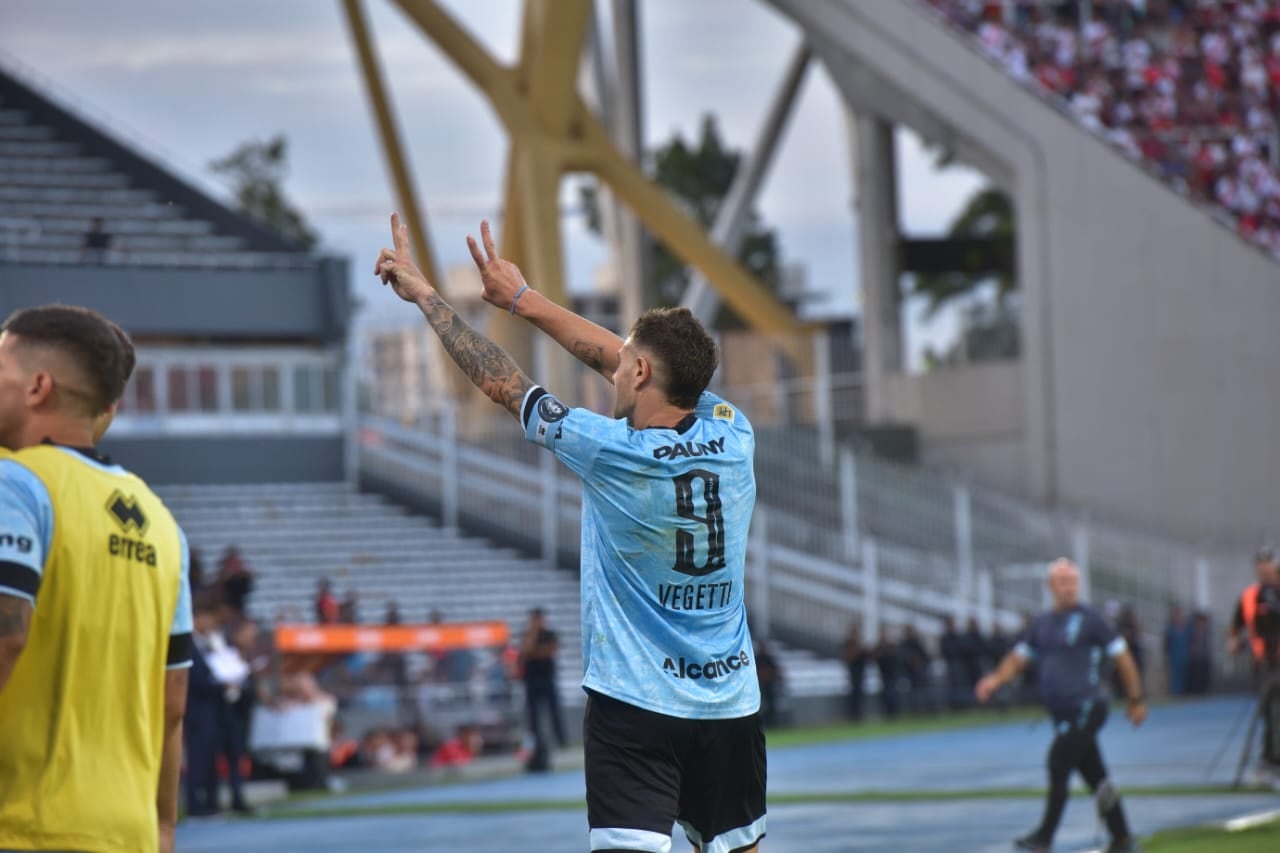
[[69, 356], [90, 387], [86, 409], [101, 415], [124, 393], [133, 373], [133, 342], [124, 329], [97, 311], [78, 305], [41, 305], [14, 311], [0, 327], [26, 343]]

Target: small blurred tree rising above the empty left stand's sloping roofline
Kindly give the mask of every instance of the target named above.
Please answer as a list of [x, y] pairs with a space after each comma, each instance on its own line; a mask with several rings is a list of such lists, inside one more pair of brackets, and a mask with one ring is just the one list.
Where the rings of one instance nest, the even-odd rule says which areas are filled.
[[284, 195], [289, 165], [288, 142], [283, 134], [266, 142], [242, 142], [225, 158], [210, 163], [209, 168], [230, 181], [242, 213], [302, 248], [316, 245], [320, 236]]

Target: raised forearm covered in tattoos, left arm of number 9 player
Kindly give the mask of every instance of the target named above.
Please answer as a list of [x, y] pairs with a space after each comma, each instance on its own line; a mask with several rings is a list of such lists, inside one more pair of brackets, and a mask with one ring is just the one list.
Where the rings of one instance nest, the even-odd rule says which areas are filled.
[[384, 284], [390, 284], [402, 300], [417, 305], [444, 345], [444, 351], [467, 374], [471, 383], [489, 400], [511, 412], [512, 418], [520, 420], [520, 405], [534, 387], [534, 382], [506, 350], [467, 325], [435, 292], [413, 263], [408, 247], [408, 231], [396, 214], [392, 214], [392, 237], [396, 248], [384, 248], [378, 255], [374, 274], [379, 275]]

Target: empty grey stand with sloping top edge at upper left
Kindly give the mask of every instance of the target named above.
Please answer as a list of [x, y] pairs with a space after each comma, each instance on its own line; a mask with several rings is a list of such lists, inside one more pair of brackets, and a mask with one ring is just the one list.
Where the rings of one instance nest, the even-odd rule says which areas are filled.
[[346, 259], [88, 115], [0, 56], [0, 314], [61, 301], [129, 330], [138, 368], [104, 448], [148, 482], [340, 479]]

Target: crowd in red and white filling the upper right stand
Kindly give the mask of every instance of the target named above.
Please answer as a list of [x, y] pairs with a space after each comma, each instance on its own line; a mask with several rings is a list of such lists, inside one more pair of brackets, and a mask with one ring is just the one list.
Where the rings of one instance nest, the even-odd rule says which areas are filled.
[[928, 3], [1280, 259], [1280, 1]]

